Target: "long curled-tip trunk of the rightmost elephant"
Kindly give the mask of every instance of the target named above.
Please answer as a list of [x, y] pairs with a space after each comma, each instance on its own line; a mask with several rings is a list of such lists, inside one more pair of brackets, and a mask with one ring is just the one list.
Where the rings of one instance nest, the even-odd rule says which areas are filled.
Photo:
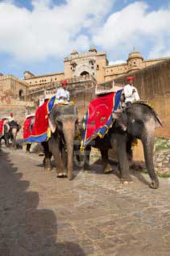
[[150, 131], [144, 132], [144, 135], [142, 137], [143, 151], [144, 151], [144, 157], [145, 157], [145, 163], [147, 166], [147, 171], [151, 178], [150, 187], [158, 188], [159, 180], [155, 174], [155, 168], [154, 168], [154, 162], [153, 162], [155, 136], [154, 136], [154, 130], [151, 131], [151, 126], [149, 129], [150, 129]]

